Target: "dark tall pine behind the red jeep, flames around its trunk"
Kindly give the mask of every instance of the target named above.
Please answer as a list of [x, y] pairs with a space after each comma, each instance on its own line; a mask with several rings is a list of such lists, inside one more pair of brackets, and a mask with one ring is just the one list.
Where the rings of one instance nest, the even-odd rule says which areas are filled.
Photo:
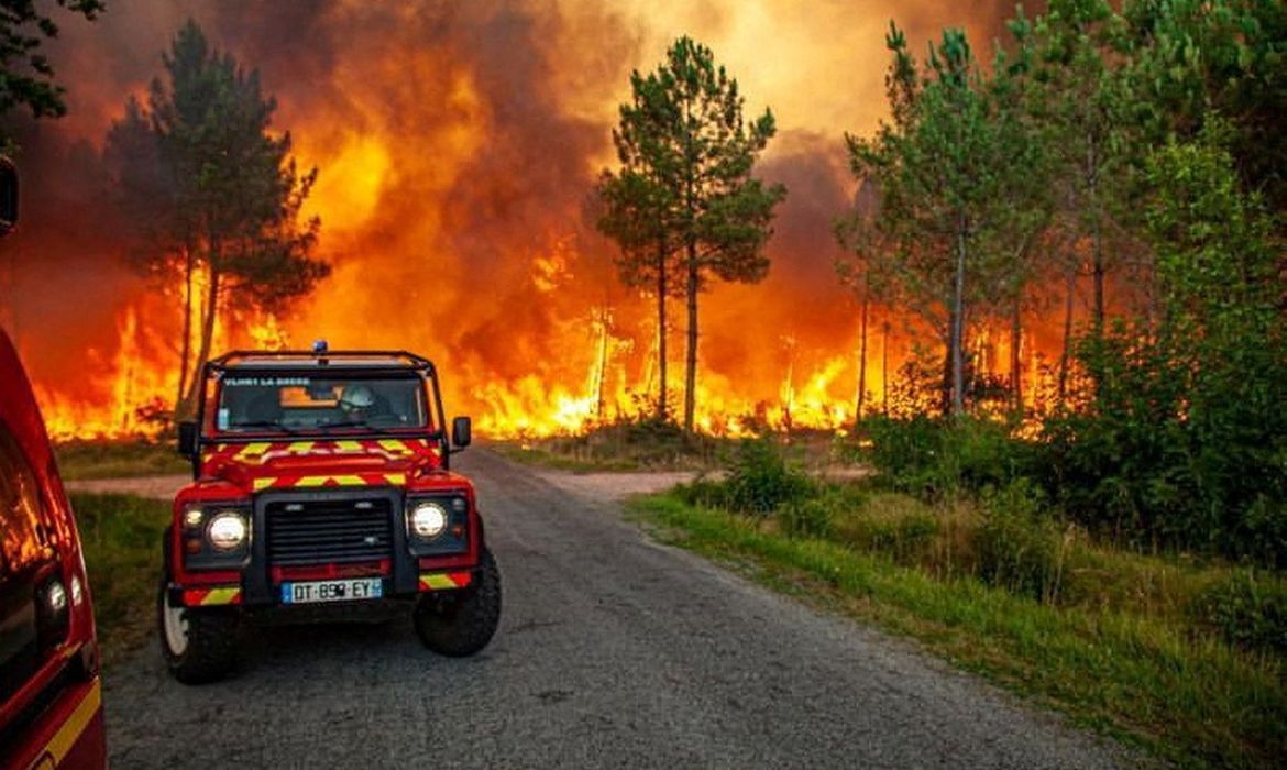
[[329, 265], [311, 256], [320, 221], [300, 221], [317, 169], [300, 174], [290, 133], [269, 133], [277, 102], [261, 95], [259, 71], [211, 49], [190, 21], [162, 61], [169, 82], [152, 81], [147, 108], [126, 103], [104, 155], [138, 228], [136, 265], [184, 282], [178, 398], [188, 412], [221, 312], [278, 310]]

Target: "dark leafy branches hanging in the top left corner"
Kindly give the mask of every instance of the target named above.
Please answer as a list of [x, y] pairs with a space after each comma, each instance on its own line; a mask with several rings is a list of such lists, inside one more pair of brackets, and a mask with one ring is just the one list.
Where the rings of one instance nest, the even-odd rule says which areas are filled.
[[[93, 21], [103, 12], [102, 0], [57, 0], [58, 6]], [[66, 89], [54, 84], [54, 67], [40, 53], [45, 40], [58, 37], [53, 17], [32, 0], [0, 1], [0, 115], [27, 107], [32, 117], [62, 117]]]

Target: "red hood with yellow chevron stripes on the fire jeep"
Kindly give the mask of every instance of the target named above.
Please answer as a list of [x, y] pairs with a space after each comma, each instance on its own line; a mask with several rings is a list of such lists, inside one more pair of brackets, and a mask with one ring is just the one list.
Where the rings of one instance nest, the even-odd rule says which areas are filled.
[[247, 493], [319, 487], [405, 487], [440, 467], [441, 448], [426, 439], [335, 439], [212, 443], [202, 449], [201, 475]]

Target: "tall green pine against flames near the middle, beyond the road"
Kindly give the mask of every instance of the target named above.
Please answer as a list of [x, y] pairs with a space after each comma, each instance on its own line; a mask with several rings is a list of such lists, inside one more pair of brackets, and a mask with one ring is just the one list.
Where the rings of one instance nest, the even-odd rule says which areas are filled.
[[[623, 171], [606, 175], [602, 185], [615, 212], [606, 232], [629, 246], [627, 276], [655, 274], [659, 306], [668, 291], [663, 277], [669, 256], [680, 267], [689, 312], [683, 426], [691, 431], [698, 295], [713, 278], [757, 282], [768, 272], [763, 246], [786, 188], [764, 185], [752, 170], [776, 127], [767, 109], [749, 125], [744, 121], [737, 81], [716, 66], [710, 49], [689, 37], [671, 46], [655, 72], [633, 75], [631, 85], [633, 102], [622, 107], [615, 134], [619, 153], [623, 144], [627, 149]], [[632, 234], [623, 241], [622, 233]], [[640, 242], [650, 249], [637, 247]], [[656, 267], [629, 267], [640, 260]]]

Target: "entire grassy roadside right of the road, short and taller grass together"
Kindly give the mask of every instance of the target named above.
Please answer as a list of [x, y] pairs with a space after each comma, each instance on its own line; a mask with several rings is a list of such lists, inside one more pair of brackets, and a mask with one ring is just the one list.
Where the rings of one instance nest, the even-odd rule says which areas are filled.
[[[934, 507], [861, 488], [831, 493], [856, 501], [848, 518], [867, 523], [842, 515], [825, 534], [792, 534], [782, 511], [694, 505], [682, 487], [629, 507], [678, 546], [744, 570], [749, 561], [754, 579], [911, 636], [1176, 765], [1277, 766], [1287, 756], [1287, 659], [1234, 646], [1194, 618], [1233, 568], [1069, 537], [1063, 592], [1039, 597], [978, 577], [970, 543], [981, 516], [968, 505]], [[912, 534], [921, 546], [871, 534], [897, 533], [897, 521], [927, 514], [941, 525], [932, 538]]]

